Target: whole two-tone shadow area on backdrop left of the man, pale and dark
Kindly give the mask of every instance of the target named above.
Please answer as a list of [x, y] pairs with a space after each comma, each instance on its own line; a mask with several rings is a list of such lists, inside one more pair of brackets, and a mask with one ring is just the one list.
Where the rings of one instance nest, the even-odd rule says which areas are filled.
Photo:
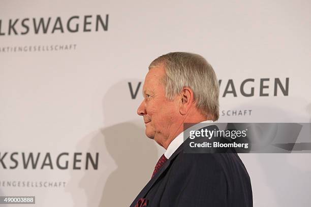
[[151, 178], [158, 149], [145, 135], [143, 119], [136, 114], [141, 98], [131, 98], [128, 82], [113, 85], [103, 98], [106, 127], [88, 133], [76, 145], [76, 152], [99, 152], [100, 163], [98, 170], [70, 172], [66, 188], [74, 206], [83, 206], [83, 201], [86, 206], [129, 206]]

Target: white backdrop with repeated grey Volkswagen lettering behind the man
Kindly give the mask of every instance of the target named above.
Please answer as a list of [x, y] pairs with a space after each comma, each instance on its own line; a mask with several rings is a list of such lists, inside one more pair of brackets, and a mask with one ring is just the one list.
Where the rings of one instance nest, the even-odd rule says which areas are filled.
[[[149, 63], [168, 52], [198, 53], [211, 63], [222, 80], [220, 122], [310, 122], [310, 6], [2, 1], [0, 195], [36, 196], [34, 206], [130, 205], [164, 152], [136, 114], [139, 83]], [[76, 32], [67, 27], [71, 17]], [[46, 33], [36, 33], [41, 18]], [[241, 92], [246, 79], [254, 79], [242, 86], [254, 90], [250, 97]], [[64, 152], [59, 164], [68, 167], [60, 169]], [[35, 161], [40, 153], [36, 167], [24, 167], [30, 153]], [[310, 154], [240, 157], [254, 206], [311, 204]]]

